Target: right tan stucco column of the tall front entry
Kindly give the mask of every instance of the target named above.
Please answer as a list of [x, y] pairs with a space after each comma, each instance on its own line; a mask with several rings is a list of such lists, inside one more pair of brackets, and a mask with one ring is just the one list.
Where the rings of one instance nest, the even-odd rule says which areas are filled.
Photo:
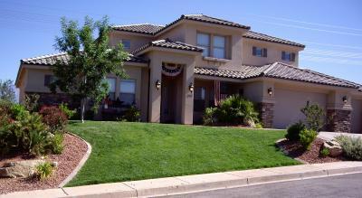
[[194, 84], [194, 59], [184, 68], [182, 80], [181, 123], [192, 125], [194, 121], [194, 92], [189, 90], [190, 84]]

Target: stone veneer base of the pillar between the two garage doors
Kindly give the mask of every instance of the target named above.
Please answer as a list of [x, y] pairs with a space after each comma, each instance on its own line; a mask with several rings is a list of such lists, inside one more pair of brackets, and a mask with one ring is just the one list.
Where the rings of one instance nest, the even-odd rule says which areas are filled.
[[350, 133], [351, 111], [328, 109], [327, 119], [329, 121], [327, 130], [332, 132]]

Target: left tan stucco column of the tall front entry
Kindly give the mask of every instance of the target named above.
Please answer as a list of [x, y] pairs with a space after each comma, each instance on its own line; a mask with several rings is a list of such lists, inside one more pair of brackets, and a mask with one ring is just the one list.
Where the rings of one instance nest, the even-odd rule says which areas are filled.
[[[150, 54], [149, 63], [149, 98], [148, 98], [148, 121], [160, 122], [161, 115], [161, 88], [157, 90], [157, 80], [162, 80], [162, 60], [156, 54]], [[162, 81], [161, 81], [162, 86]]]

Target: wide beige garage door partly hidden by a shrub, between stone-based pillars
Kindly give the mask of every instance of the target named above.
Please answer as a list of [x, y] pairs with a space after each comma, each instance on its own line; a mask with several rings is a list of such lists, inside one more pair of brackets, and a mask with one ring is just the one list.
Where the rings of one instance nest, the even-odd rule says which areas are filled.
[[325, 109], [327, 95], [276, 88], [273, 126], [276, 128], [286, 128], [300, 119], [304, 119], [300, 108], [303, 108], [307, 101], [318, 103], [321, 108]]

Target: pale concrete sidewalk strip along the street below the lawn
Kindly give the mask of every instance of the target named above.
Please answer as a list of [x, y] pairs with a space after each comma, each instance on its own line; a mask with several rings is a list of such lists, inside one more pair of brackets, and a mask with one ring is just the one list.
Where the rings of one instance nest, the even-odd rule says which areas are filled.
[[292, 165], [215, 174], [195, 174], [133, 182], [16, 192], [0, 195], [0, 197], [145, 197], [355, 173], [362, 173], [362, 162]]

